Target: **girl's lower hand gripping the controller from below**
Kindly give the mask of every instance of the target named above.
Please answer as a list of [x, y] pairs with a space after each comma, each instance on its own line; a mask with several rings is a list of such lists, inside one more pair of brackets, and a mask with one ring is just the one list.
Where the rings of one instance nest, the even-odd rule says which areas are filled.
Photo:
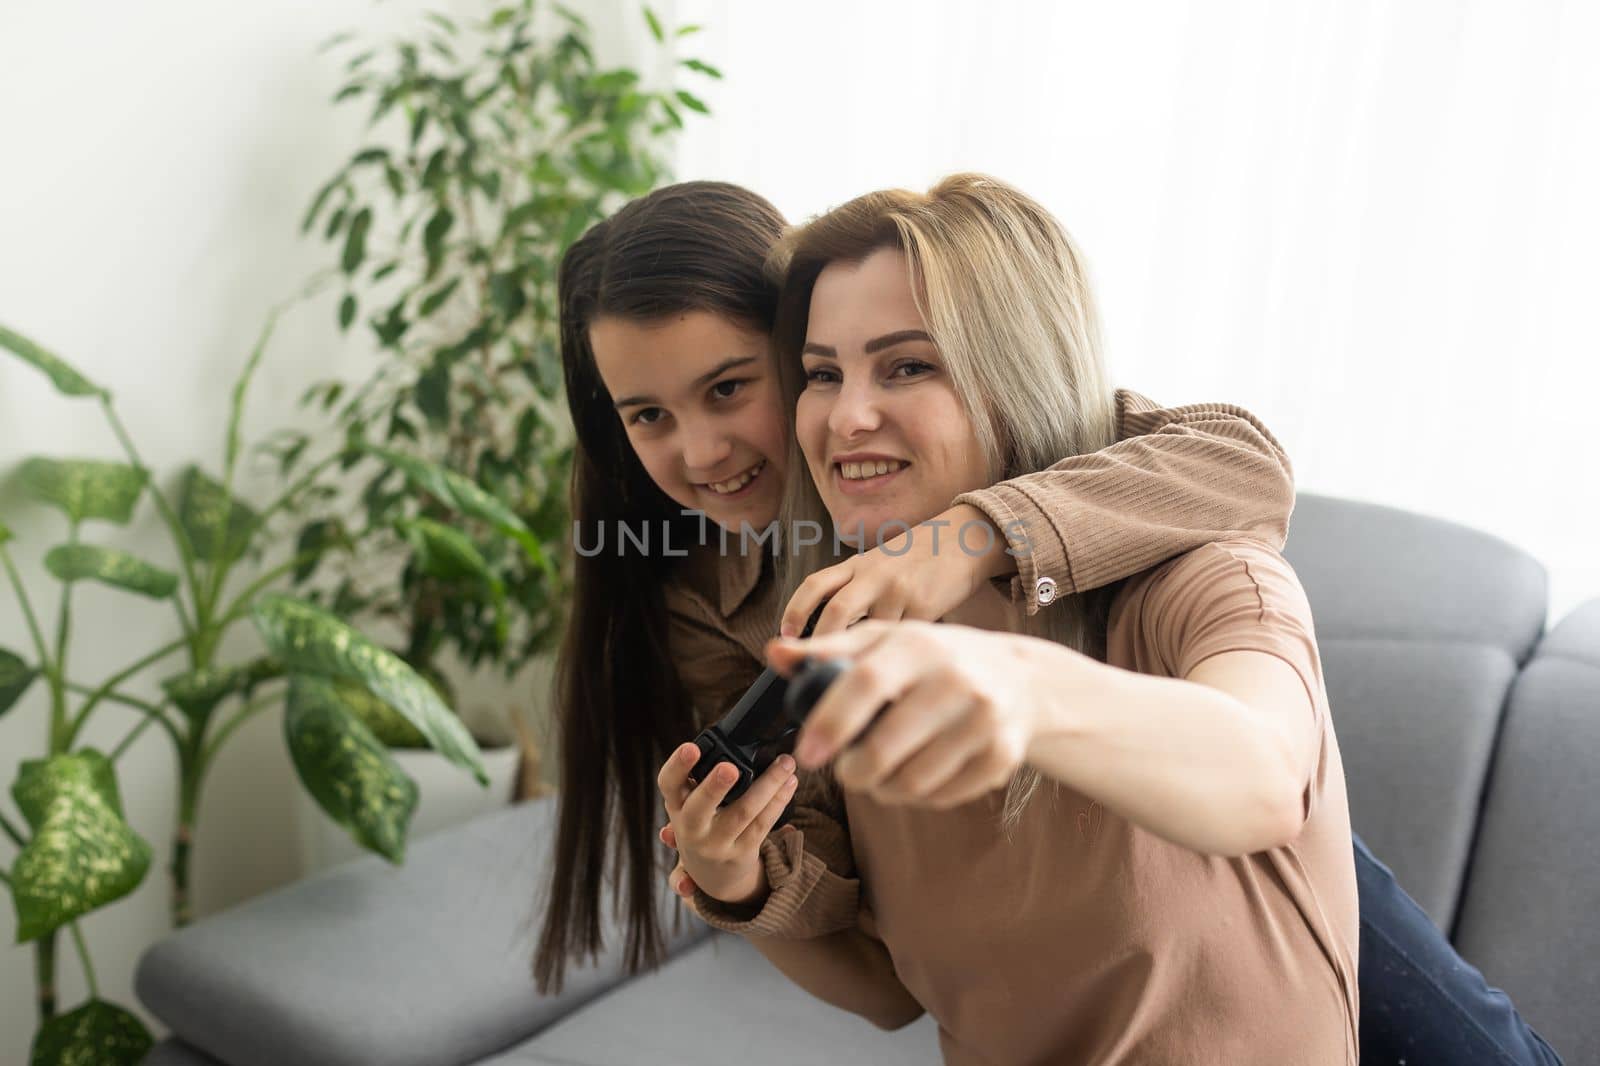
[[[698, 760], [699, 749], [682, 744], [656, 776], [667, 808], [672, 847], [678, 850], [680, 869], [672, 871], [672, 890], [693, 895], [698, 885], [722, 903], [755, 903], [768, 892], [760, 858], [762, 840], [794, 799], [798, 781], [795, 760], [790, 755], [774, 759], [744, 795], [726, 807], [718, 804], [739, 779], [739, 771], [730, 763], [720, 763], [706, 781], [696, 784], [690, 779], [690, 770]], [[662, 829], [662, 842], [667, 829]], [[685, 874], [693, 882], [688, 892], [680, 890]]]

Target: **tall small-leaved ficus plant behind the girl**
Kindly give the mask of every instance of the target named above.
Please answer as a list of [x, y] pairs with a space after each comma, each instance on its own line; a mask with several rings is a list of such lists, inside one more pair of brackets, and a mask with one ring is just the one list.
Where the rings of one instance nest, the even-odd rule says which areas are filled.
[[[669, 34], [643, 14], [662, 53], [698, 29]], [[301, 547], [342, 551], [296, 579], [339, 615], [394, 624], [397, 651], [429, 677], [448, 650], [512, 680], [554, 648], [566, 595], [560, 256], [664, 181], [672, 133], [707, 109], [675, 75], [646, 88], [635, 70], [602, 67], [589, 24], [534, 0], [472, 26], [430, 14], [384, 46], [334, 46], [354, 53], [334, 101], [365, 107], [368, 134], [304, 229], [336, 259], [339, 327], [370, 330], [384, 362], [358, 389], [325, 381], [304, 397], [330, 413], [362, 487], [301, 498]], [[720, 77], [699, 59], [670, 69]], [[307, 435], [272, 447], [294, 477]], [[464, 517], [448, 495], [410, 491], [418, 459], [501, 501], [531, 543]], [[373, 576], [373, 560], [394, 565]]]

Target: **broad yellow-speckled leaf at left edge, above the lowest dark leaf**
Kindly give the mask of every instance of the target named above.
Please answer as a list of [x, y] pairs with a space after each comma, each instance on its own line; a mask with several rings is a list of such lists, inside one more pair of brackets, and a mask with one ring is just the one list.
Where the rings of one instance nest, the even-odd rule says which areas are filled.
[[88, 747], [26, 759], [11, 795], [32, 839], [11, 866], [16, 940], [61, 928], [133, 892], [150, 869], [150, 845], [122, 815], [117, 771]]

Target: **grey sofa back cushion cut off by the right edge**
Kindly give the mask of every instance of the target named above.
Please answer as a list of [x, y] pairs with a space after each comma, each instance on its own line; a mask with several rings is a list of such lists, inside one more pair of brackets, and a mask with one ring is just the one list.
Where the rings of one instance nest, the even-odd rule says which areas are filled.
[[1568, 1063], [1600, 1063], [1600, 600], [1512, 688], [1456, 944]]

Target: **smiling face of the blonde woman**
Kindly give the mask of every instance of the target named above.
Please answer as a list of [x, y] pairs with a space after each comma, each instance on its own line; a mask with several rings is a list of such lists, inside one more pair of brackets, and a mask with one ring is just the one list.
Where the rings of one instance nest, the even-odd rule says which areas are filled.
[[870, 547], [989, 485], [898, 248], [822, 269], [802, 362], [795, 435], [842, 539], [864, 530]]

